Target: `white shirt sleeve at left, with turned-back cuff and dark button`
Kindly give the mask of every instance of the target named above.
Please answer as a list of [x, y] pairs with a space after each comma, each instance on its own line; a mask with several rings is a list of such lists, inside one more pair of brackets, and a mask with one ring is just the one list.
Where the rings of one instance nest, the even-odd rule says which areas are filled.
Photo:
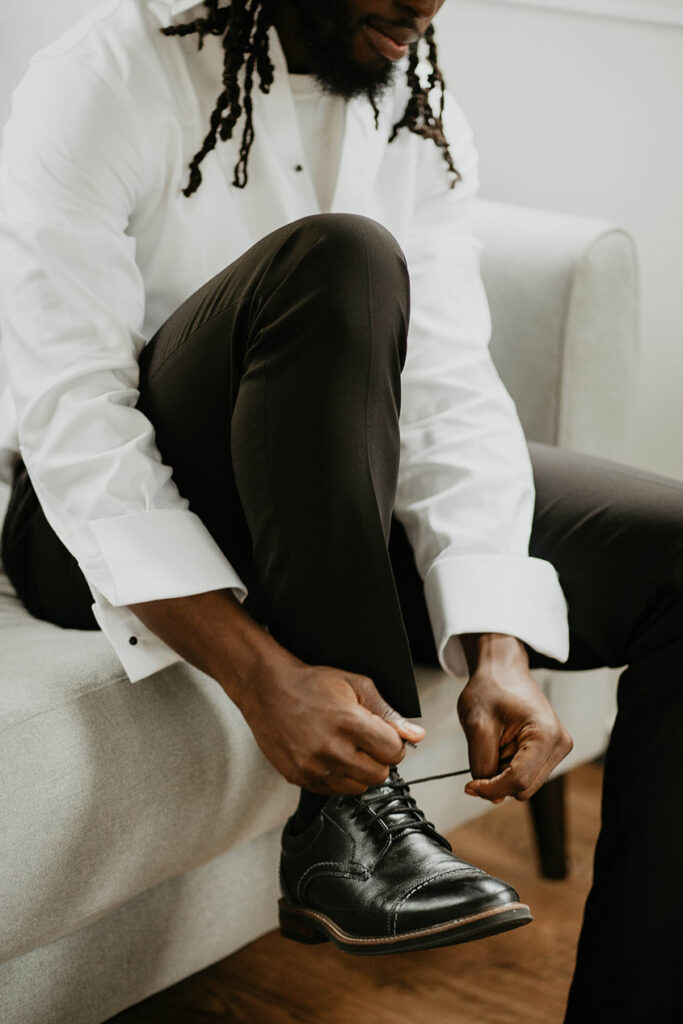
[[247, 595], [135, 408], [144, 288], [128, 224], [148, 187], [141, 136], [123, 89], [71, 53], [41, 56], [14, 92], [0, 169], [0, 323], [22, 457], [133, 681], [180, 658], [125, 606]]

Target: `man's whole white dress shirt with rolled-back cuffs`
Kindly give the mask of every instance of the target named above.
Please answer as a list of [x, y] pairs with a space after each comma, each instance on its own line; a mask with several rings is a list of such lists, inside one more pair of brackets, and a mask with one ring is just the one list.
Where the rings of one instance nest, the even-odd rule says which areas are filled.
[[[140, 350], [254, 242], [321, 212], [274, 30], [274, 85], [268, 95], [254, 89], [247, 187], [230, 183], [238, 126], [202, 164], [199, 190], [181, 194], [221, 91], [223, 58], [215, 36], [198, 50], [194, 35], [159, 32], [197, 16], [193, 6], [111, 0], [91, 11], [33, 58], [3, 133], [0, 445], [8, 466], [17, 431], [47, 519], [78, 559], [132, 681], [179, 655], [127, 605], [220, 588], [246, 597], [135, 409]], [[564, 595], [553, 566], [528, 557], [530, 464], [488, 354], [470, 222], [472, 131], [449, 96], [446, 135], [463, 175], [450, 189], [432, 142], [401, 130], [387, 144], [407, 98], [400, 76], [377, 130], [365, 98], [345, 104], [331, 204], [389, 228], [411, 273], [395, 514], [446, 672], [467, 675], [458, 635], [471, 632], [512, 634], [565, 660]]]

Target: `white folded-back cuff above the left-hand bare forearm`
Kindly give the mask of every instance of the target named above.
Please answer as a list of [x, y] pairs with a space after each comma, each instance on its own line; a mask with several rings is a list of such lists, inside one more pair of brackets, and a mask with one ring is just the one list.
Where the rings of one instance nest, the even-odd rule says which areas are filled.
[[151, 509], [88, 523], [99, 557], [81, 563], [88, 583], [115, 607], [247, 588], [198, 515]]

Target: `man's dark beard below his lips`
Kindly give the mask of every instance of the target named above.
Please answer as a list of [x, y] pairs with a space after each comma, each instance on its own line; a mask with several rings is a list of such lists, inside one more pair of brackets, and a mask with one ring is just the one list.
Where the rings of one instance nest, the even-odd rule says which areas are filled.
[[353, 56], [353, 23], [348, 0], [294, 0], [300, 39], [310, 74], [319, 87], [343, 99], [366, 95], [376, 105], [392, 85], [395, 65], [367, 68]]

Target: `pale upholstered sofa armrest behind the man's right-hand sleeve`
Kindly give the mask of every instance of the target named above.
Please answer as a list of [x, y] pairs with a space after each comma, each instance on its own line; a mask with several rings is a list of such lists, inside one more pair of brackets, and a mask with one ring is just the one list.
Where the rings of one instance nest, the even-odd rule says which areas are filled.
[[492, 354], [529, 440], [628, 450], [638, 337], [635, 246], [603, 220], [477, 200]]

